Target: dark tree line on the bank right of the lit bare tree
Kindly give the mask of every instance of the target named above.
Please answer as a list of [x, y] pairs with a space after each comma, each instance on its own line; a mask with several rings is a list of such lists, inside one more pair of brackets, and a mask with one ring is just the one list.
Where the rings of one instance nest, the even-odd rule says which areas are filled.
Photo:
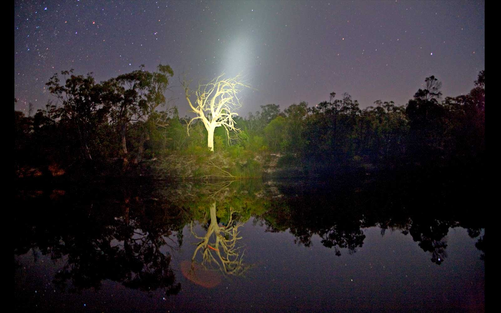
[[[484, 157], [484, 71], [467, 95], [441, 97], [441, 83], [430, 76], [406, 105], [377, 100], [363, 110], [347, 93], [308, 107], [291, 105], [273, 112], [264, 129], [274, 151], [289, 155], [287, 162], [312, 168], [366, 163], [458, 164], [481, 162]], [[265, 109], [266, 108], [266, 109]], [[258, 118], [259, 114], [254, 117]], [[261, 119], [263, 117], [261, 116]]]

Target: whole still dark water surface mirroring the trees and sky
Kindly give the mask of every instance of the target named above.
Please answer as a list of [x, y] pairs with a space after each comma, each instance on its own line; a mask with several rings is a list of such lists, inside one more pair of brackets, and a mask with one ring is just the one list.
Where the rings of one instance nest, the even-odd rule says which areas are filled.
[[484, 311], [473, 187], [433, 177], [18, 188], [18, 311]]

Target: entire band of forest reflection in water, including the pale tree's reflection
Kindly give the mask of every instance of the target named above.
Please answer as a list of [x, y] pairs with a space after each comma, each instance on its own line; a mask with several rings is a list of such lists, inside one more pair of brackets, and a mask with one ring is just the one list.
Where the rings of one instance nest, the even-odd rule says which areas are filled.
[[319, 235], [337, 255], [361, 247], [366, 227], [379, 226], [382, 234], [398, 230], [410, 234], [437, 264], [446, 258], [449, 228], [460, 226], [478, 238], [475, 246], [483, 259], [485, 217], [476, 209], [481, 207], [479, 192], [449, 177], [447, 183], [407, 173], [272, 187], [256, 181], [168, 187], [145, 181], [64, 191], [20, 187], [15, 254], [37, 248], [53, 259], [67, 257], [64, 270], [54, 277], [61, 286], [71, 282], [77, 289], [99, 288], [111, 279], [176, 294], [180, 284], [170, 267], [170, 252], [182, 245], [182, 229], [193, 223], [206, 231], [197, 232], [193, 260], [238, 274], [247, 268], [238, 249], [238, 227], [253, 216], [268, 231], [289, 229], [305, 246]]

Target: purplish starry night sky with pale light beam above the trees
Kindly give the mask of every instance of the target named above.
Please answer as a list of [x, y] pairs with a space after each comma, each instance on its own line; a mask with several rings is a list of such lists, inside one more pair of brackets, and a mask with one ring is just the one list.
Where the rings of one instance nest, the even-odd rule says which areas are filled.
[[483, 1], [15, 1], [15, 110], [43, 108], [63, 70], [97, 82], [168, 64], [179, 80], [242, 74], [240, 116], [348, 92], [361, 108], [406, 104], [434, 75], [466, 94], [485, 68]]

